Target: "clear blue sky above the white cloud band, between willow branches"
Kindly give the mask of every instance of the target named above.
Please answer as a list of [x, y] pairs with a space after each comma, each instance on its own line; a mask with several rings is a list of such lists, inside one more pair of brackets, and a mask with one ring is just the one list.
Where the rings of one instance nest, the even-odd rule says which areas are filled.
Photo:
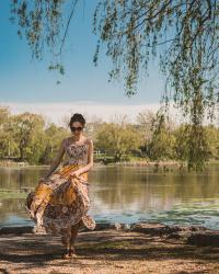
[[[64, 50], [65, 77], [47, 70], [49, 55], [43, 61], [32, 60], [26, 42], [16, 35], [16, 25], [9, 22], [10, 1], [0, 3], [0, 101], [18, 103], [65, 103], [89, 101], [105, 104], [151, 104], [160, 100], [163, 80], [155, 64], [150, 77], [139, 83], [138, 94], [124, 95], [123, 82], [108, 83], [111, 60], [101, 54], [97, 67], [92, 62], [96, 37], [91, 22], [96, 1], [78, 7], [77, 15]], [[57, 85], [56, 81], [61, 80]]]

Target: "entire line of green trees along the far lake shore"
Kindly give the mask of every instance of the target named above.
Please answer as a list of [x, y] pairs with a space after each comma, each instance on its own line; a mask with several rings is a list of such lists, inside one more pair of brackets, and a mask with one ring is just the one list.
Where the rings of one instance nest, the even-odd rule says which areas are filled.
[[[66, 122], [66, 124], [68, 124]], [[122, 160], [178, 160], [198, 157], [195, 146], [205, 160], [219, 159], [219, 128], [207, 125], [201, 128], [204, 141], [191, 142], [193, 126], [176, 123], [168, 116], [152, 112], [141, 112], [134, 124], [127, 116], [115, 116], [111, 123], [95, 119], [88, 122], [84, 135], [94, 141], [94, 159], [111, 158]], [[62, 138], [70, 136], [68, 126], [46, 123], [38, 114], [12, 115], [8, 107], [0, 107], [0, 159], [49, 164], [56, 156]], [[195, 140], [195, 138], [194, 138]]]

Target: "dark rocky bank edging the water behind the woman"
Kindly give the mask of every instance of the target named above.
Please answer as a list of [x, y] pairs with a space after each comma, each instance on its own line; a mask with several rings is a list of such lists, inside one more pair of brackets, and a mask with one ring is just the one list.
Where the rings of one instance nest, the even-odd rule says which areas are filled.
[[[34, 226], [2, 226], [0, 235], [23, 235], [31, 233]], [[132, 224], [123, 222], [96, 222], [93, 231], [116, 230], [125, 232], [141, 232], [152, 236], [168, 237], [168, 239], [183, 239], [187, 242], [196, 242], [198, 246], [216, 246], [219, 247], [219, 229], [209, 229], [197, 225], [164, 225], [154, 221], [139, 221]], [[89, 232], [88, 228], [81, 229], [83, 232]]]

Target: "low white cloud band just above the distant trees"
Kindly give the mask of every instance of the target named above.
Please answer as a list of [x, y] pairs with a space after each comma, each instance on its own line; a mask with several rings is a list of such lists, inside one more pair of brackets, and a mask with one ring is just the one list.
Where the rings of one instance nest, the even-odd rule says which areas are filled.
[[159, 104], [105, 104], [90, 101], [78, 101], [69, 103], [13, 103], [1, 102], [1, 106], [9, 106], [12, 114], [31, 112], [42, 114], [47, 122], [62, 124], [65, 116], [78, 112], [83, 114], [88, 119], [102, 118], [111, 121], [116, 115], [127, 115], [130, 122], [134, 122], [139, 112], [150, 110], [158, 111]]

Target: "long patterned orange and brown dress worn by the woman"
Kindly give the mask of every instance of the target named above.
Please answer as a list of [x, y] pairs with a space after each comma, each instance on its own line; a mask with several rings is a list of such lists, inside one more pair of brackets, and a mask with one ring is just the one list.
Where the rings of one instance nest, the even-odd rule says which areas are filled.
[[67, 160], [46, 181], [38, 183], [25, 202], [35, 233], [65, 235], [82, 220], [93, 230], [95, 221], [88, 215], [90, 208], [88, 172], [70, 176], [70, 172], [88, 164], [88, 144], [69, 144], [65, 139]]

